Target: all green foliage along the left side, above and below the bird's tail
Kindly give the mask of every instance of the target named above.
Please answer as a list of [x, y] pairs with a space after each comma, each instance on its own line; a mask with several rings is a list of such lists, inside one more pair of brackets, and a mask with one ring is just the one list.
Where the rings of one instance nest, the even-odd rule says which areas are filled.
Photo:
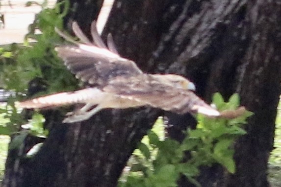
[[[29, 1], [30, 6], [36, 1]], [[49, 94], [59, 91], [75, 90], [78, 82], [75, 77], [66, 70], [61, 60], [54, 51], [55, 45], [62, 43], [61, 38], [55, 33], [54, 28], [62, 29], [63, 17], [69, 10], [69, 1], [57, 3], [54, 8], [47, 8], [47, 0], [41, 4], [42, 11], [35, 15], [35, 20], [28, 27], [28, 33], [24, 44], [11, 44], [0, 47], [0, 87], [14, 91], [16, 94], [9, 98], [7, 105], [0, 107], [0, 115], [5, 119], [0, 123], [0, 134], [11, 135], [17, 133], [19, 138], [12, 140], [10, 147], [17, 147], [23, 140], [21, 137], [28, 134], [34, 136], [46, 136], [48, 132], [43, 129], [44, 117], [33, 113], [32, 119], [26, 119], [14, 107], [15, 100], [41, 94]], [[28, 43], [28, 41], [34, 41]], [[39, 86], [44, 89], [30, 93], [32, 81], [40, 78]], [[43, 92], [42, 92], [43, 91]], [[26, 124], [25, 124], [26, 123]], [[21, 133], [18, 133], [22, 130]]]

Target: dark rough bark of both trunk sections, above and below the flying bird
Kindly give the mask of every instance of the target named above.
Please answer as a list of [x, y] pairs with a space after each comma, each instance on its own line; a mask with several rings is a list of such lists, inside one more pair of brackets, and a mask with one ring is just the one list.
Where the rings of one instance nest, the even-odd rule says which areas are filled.
[[[207, 101], [214, 92], [225, 98], [239, 93], [255, 116], [235, 145], [237, 172], [203, 168], [198, 180], [203, 187], [268, 186], [281, 93], [280, 0], [116, 0], [104, 36], [108, 32], [120, 54], [142, 70], [184, 75]], [[9, 152], [3, 186], [114, 187], [158, 115], [149, 108], [104, 110], [82, 124], [53, 122], [34, 158], [20, 157], [34, 140]], [[195, 123], [189, 115], [166, 115], [173, 124], [169, 134], [177, 140], [181, 129]], [[191, 185], [182, 178], [179, 186]]]

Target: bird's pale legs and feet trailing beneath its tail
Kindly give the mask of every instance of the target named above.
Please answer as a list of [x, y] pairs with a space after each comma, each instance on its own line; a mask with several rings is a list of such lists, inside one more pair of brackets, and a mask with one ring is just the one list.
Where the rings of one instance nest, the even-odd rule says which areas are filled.
[[[88, 111], [87, 110], [93, 106], [87, 106], [88, 104], [86, 104], [84, 107], [82, 107], [81, 109], [83, 109], [83, 111], [78, 111], [78, 113], [74, 113], [72, 116], [66, 117], [62, 122], [63, 123], [74, 123], [74, 122], [79, 122], [79, 121], [84, 121], [86, 119], [89, 119], [91, 116], [93, 116], [94, 114], [96, 114], [97, 112], [99, 112], [100, 110], [102, 110], [102, 107], [100, 105], [96, 106], [95, 108], [93, 108], [92, 110]], [[87, 110], [85, 110], [87, 109]]]

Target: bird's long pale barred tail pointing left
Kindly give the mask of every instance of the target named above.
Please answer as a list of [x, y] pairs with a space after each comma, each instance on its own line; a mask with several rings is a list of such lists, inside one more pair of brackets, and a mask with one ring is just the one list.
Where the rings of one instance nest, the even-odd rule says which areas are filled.
[[47, 108], [56, 107], [68, 104], [86, 103], [99, 104], [104, 97], [101, 90], [97, 88], [87, 88], [76, 92], [62, 92], [51, 94], [34, 99], [29, 99], [23, 102], [16, 103], [18, 108]]

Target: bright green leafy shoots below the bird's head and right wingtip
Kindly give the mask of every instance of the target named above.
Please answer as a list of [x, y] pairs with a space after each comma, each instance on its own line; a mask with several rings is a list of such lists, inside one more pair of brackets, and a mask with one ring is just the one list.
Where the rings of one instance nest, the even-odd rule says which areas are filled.
[[[229, 102], [224, 102], [217, 93], [213, 96], [213, 103], [218, 110], [235, 110], [239, 106], [239, 96], [233, 94]], [[198, 115], [197, 128], [188, 129], [185, 132], [186, 138], [181, 143], [170, 138], [159, 140], [159, 136], [151, 131], [148, 134], [149, 145], [139, 145], [143, 156], [135, 156], [137, 162], [132, 164], [126, 180], [121, 181], [119, 187], [176, 187], [180, 175], [200, 186], [195, 180], [200, 174], [200, 166], [215, 163], [234, 173], [233, 143], [246, 133], [241, 125], [252, 115], [249, 111], [233, 119]], [[187, 161], [183, 162], [184, 160]]]

